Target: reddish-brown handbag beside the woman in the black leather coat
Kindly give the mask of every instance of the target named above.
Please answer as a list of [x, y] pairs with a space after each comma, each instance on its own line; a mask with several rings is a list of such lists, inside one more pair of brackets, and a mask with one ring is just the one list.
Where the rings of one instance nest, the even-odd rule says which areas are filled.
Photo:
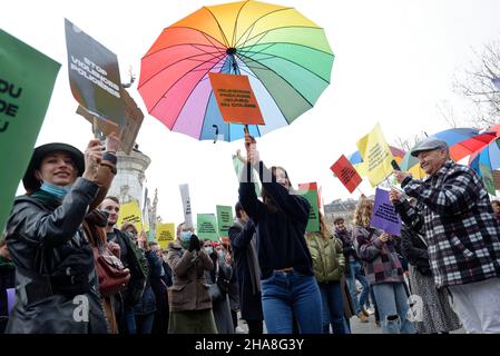
[[107, 247], [100, 249], [94, 247], [92, 249], [100, 294], [112, 296], [124, 290], [130, 279], [130, 270], [125, 268], [121, 260], [112, 255]]

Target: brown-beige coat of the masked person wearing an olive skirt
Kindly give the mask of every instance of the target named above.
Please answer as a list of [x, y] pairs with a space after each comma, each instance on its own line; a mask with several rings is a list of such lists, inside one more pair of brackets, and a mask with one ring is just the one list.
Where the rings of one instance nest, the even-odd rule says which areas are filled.
[[[196, 257], [195, 257], [196, 254]], [[168, 288], [170, 312], [203, 310], [212, 308], [208, 291], [210, 285], [204, 276], [214, 264], [205, 251], [182, 251], [175, 241], [168, 246], [167, 263], [173, 273], [173, 285]]]

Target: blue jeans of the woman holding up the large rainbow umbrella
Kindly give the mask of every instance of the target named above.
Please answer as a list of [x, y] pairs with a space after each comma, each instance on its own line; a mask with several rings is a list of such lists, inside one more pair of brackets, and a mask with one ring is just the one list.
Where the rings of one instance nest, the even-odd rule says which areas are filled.
[[322, 334], [321, 294], [314, 276], [275, 270], [261, 285], [268, 334], [292, 334], [293, 317], [301, 334]]

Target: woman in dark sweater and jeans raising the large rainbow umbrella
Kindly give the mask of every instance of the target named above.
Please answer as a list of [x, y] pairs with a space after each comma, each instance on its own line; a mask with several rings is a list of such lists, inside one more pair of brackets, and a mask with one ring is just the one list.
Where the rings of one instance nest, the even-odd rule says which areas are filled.
[[[268, 170], [259, 159], [255, 139], [245, 135], [247, 165], [239, 184], [239, 202], [257, 230], [264, 320], [269, 334], [292, 334], [293, 317], [300, 333], [322, 333], [321, 295], [304, 239], [311, 206], [294, 195], [286, 170]], [[257, 199], [251, 166], [258, 168], [263, 201]]]

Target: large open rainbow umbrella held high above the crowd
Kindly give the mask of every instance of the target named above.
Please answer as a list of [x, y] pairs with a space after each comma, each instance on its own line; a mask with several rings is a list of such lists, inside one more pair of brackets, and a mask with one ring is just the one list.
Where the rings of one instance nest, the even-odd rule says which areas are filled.
[[292, 123], [330, 83], [334, 55], [324, 30], [293, 8], [258, 1], [204, 7], [164, 29], [141, 60], [138, 90], [148, 112], [196, 139], [243, 138], [224, 122], [208, 72], [248, 76], [265, 125]]

